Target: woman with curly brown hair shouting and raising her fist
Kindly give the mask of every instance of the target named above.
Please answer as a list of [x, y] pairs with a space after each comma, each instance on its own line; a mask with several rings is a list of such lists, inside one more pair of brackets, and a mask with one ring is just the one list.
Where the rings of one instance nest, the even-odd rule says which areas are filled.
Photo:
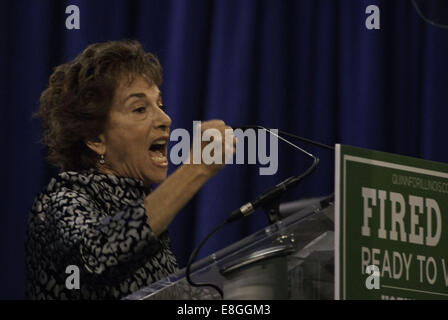
[[[171, 119], [161, 83], [157, 58], [132, 41], [90, 45], [50, 76], [37, 115], [62, 172], [31, 209], [28, 298], [118, 299], [177, 270], [166, 229], [225, 161], [184, 164], [166, 177]], [[229, 129], [202, 123], [210, 128], [222, 137]], [[79, 289], [66, 286], [69, 266]]]

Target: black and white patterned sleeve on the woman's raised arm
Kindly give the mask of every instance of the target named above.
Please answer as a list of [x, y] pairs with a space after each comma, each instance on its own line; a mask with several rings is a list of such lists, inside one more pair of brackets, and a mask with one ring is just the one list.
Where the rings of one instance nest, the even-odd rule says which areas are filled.
[[51, 200], [57, 237], [78, 255], [79, 267], [91, 275], [118, 275], [120, 270], [115, 267], [128, 269], [160, 248], [148, 225], [143, 200], [107, 216], [94, 201], [75, 191], [58, 192]]

